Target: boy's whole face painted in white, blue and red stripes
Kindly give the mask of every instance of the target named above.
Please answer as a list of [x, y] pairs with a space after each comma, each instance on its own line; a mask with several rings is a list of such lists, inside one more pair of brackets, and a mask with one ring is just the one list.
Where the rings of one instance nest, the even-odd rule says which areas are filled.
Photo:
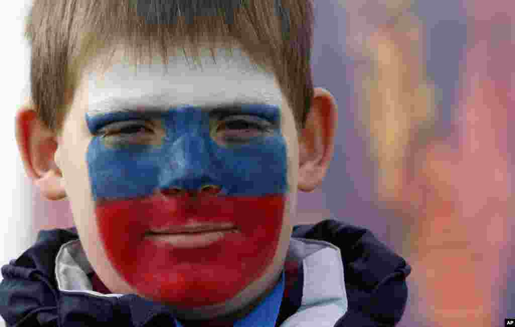
[[[201, 69], [179, 53], [167, 70], [157, 59], [135, 70], [123, 51], [105, 71], [90, 66], [55, 159], [106, 286], [210, 316], [277, 282], [297, 132], [274, 76], [246, 54], [204, 54]], [[217, 232], [173, 230], [191, 226]]]

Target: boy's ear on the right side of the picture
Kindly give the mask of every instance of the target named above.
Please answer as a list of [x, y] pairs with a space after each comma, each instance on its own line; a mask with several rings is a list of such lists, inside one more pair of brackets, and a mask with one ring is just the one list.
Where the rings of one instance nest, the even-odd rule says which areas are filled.
[[328, 90], [315, 88], [311, 111], [299, 135], [298, 188], [303, 192], [316, 189], [333, 158], [337, 106]]

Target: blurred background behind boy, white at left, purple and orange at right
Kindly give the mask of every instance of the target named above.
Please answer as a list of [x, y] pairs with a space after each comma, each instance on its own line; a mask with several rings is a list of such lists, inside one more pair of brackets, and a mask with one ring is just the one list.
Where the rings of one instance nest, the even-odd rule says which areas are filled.
[[[29, 94], [22, 28], [30, 3], [4, 5], [0, 20], [9, 31], [0, 53], [2, 265], [39, 230], [73, 225], [67, 201], [33, 187], [14, 138], [16, 108]], [[515, 3], [323, 0], [315, 9], [315, 85], [335, 96], [339, 121], [328, 176], [299, 193], [295, 224], [362, 226], [405, 258], [413, 271], [399, 326], [500, 326], [515, 317]]]

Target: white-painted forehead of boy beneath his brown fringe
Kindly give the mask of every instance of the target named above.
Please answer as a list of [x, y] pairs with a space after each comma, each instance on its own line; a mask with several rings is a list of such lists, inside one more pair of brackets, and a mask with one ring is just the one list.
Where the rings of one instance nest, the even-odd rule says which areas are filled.
[[88, 75], [88, 116], [151, 106], [217, 107], [233, 103], [263, 103], [281, 107], [282, 93], [271, 72], [255, 67], [239, 49], [218, 49], [215, 61], [203, 50], [200, 66], [176, 52], [168, 65], [155, 57], [134, 66], [121, 51], [114, 64]]

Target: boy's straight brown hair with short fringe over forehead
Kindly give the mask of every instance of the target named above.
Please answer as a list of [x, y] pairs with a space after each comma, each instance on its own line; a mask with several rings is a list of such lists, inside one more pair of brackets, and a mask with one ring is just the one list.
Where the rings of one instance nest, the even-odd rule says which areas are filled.
[[221, 42], [271, 69], [300, 130], [313, 98], [313, 21], [312, 0], [34, 0], [25, 27], [32, 103], [60, 134], [81, 73], [101, 51], [123, 44], [142, 59], [157, 49], [167, 63], [170, 47], [197, 60], [202, 41], [213, 56]]

